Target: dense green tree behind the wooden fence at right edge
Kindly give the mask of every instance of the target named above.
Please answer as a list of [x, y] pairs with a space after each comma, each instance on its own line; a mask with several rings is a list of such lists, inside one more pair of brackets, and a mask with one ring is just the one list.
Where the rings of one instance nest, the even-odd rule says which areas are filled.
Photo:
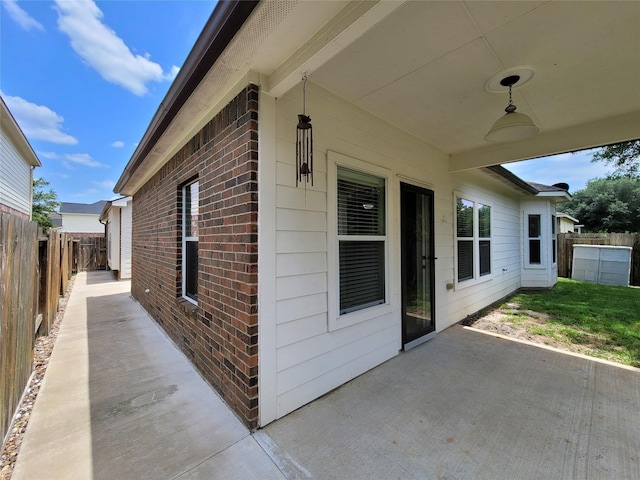
[[640, 231], [640, 178], [591, 180], [558, 210], [577, 218], [588, 232]]

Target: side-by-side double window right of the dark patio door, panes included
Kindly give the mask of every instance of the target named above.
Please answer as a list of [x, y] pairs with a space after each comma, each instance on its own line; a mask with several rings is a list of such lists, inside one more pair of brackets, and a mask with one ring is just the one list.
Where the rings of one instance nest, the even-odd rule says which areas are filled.
[[456, 197], [458, 282], [491, 274], [491, 207]]

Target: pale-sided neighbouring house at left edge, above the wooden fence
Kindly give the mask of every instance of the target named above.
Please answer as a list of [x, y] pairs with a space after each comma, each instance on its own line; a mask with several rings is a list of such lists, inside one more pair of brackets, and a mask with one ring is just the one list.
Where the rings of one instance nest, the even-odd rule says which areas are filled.
[[0, 97], [0, 213], [31, 219], [33, 169], [42, 164]]

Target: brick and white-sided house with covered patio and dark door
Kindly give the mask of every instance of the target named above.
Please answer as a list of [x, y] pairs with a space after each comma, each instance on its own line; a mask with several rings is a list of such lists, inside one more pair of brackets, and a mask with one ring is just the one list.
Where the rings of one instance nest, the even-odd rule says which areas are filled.
[[[639, 23], [637, 2], [218, 2], [115, 187], [132, 295], [255, 428], [552, 287], [569, 194], [500, 164], [639, 136]], [[519, 65], [541, 132], [489, 144], [508, 94], [487, 90]]]

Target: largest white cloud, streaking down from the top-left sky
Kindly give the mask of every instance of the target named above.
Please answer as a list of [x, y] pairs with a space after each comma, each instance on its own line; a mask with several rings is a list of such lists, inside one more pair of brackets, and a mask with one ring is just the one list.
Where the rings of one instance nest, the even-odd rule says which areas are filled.
[[177, 67], [164, 73], [149, 54], [135, 55], [117, 33], [102, 22], [102, 11], [93, 0], [56, 0], [58, 27], [71, 46], [105, 80], [135, 95], [147, 93], [148, 82], [175, 77]]

